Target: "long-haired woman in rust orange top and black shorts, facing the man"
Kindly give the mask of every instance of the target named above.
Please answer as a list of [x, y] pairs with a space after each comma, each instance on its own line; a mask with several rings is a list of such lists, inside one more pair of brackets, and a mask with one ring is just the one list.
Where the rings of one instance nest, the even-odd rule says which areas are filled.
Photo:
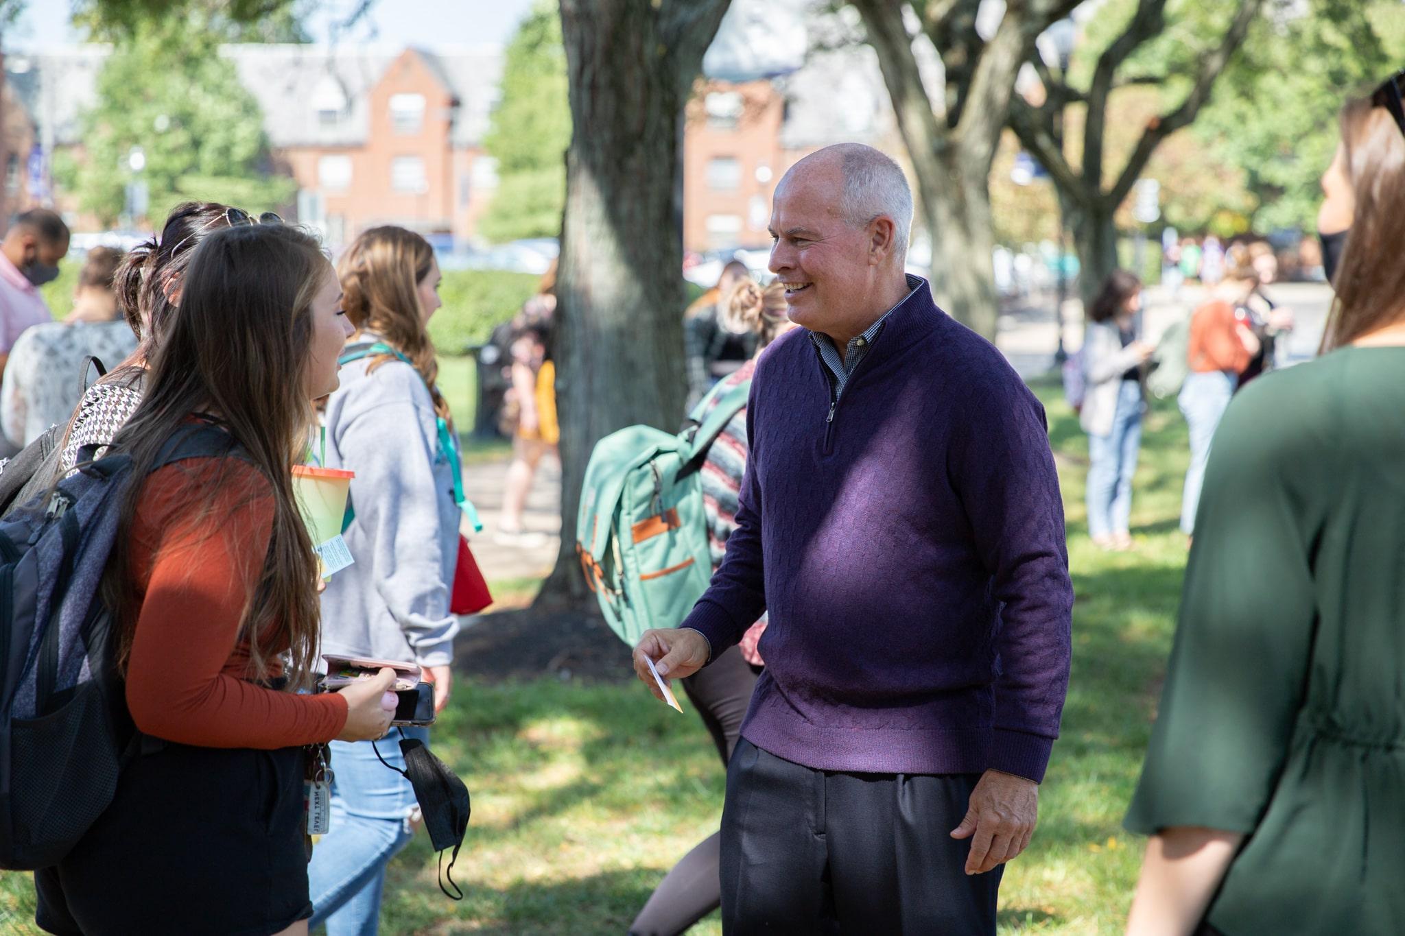
[[[282, 225], [214, 232], [185, 269], [143, 400], [112, 439], [143, 479], [103, 588], [142, 755], [69, 856], [35, 874], [49, 932], [306, 933], [305, 745], [378, 738], [393, 710], [389, 669], [295, 692], [319, 615], [291, 470], [312, 400], [337, 386], [339, 300], [318, 243]], [[228, 434], [230, 453], [150, 472], [192, 424]]]

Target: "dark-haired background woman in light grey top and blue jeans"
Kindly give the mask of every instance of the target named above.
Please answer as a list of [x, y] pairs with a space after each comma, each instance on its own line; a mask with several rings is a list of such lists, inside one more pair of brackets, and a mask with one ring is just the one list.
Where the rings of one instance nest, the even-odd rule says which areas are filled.
[[1132, 476], [1146, 401], [1142, 365], [1155, 347], [1138, 340], [1142, 283], [1114, 269], [1089, 309], [1083, 338], [1083, 408], [1087, 432], [1087, 533], [1100, 549], [1131, 549]]

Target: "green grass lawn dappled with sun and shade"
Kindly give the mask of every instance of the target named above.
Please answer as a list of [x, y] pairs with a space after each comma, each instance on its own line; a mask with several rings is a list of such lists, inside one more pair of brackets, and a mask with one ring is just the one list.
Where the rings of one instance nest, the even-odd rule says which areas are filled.
[[[1173, 403], [1149, 414], [1132, 514], [1138, 549], [1102, 553], [1085, 528], [1085, 436], [1052, 385], [1040, 394], [1064, 480], [1078, 592], [1073, 679], [1038, 831], [1005, 876], [1000, 926], [1002, 933], [1120, 933], [1142, 845], [1120, 824], [1148, 740], [1186, 557], [1176, 526], [1186, 432]], [[513, 582], [504, 591], [528, 588]], [[721, 815], [722, 769], [697, 716], [679, 716], [629, 679], [464, 681], [434, 747], [473, 793], [455, 869], [465, 900], [440, 894], [434, 855], [420, 835], [391, 864], [382, 933], [621, 933]], [[30, 932], [30, 919], [28, 876], [4, 874], [0, 932]], [[717, 915], [693, 932], [719, 933]]]

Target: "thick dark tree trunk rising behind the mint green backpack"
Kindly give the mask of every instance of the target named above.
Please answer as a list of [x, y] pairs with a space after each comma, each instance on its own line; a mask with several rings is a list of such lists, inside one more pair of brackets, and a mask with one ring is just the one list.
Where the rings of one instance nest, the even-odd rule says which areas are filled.
[[538, 605], [587, 595], [576, 509], [596, 442], [639, 422], [674, 429], [683, 418], [679, 118], [725, 10], [726, 0], [561, 4], [575, 125], [552, 340], [562, 522]]

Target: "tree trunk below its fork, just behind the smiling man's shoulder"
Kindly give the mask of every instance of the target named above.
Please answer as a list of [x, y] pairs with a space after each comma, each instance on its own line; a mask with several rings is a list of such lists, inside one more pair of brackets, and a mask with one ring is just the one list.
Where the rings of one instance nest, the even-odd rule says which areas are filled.
[[[976, 166], [969, 166], [974, 161]], [[999, 296], [991, 254], [995, 233], [984, 159], [939, 156], [937, 178], [919, 178], [932, 234], [932, 290], [953, 319], [995, 341]]]

